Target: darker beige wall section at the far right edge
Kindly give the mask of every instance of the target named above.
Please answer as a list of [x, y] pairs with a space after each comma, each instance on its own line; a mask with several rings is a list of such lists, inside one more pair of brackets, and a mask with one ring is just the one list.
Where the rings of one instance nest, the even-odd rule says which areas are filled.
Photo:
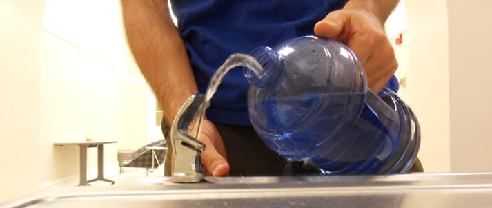
[[492, 171], [492, 1], [448, 1], [451, 171]]

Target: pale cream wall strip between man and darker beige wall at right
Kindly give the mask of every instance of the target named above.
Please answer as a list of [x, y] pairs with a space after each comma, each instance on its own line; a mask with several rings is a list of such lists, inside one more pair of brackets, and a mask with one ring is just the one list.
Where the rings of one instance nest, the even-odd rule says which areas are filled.
[[[407, 0], [409, 105], [422, 131], [426, 172], [450, 171], [449, 58], [446, 0]], [[405, 37], [404, 37], [405, 38]]]

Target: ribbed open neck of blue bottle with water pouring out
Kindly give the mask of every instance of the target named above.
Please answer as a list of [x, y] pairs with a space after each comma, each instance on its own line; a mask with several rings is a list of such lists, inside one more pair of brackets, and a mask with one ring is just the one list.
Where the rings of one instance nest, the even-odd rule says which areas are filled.
[[251, 55], [262, 65], [263, 70], [255, 73], [250, 68], [244, 68], [243, 73], [248, 82], [259, 88], [274, 86], [284, 70], [282, 57], [270, 47], [257, 48]]

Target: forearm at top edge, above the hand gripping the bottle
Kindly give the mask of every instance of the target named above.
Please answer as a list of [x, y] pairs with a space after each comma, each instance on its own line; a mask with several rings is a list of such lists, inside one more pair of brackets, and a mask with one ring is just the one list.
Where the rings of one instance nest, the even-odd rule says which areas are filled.
[[344, 8], [372, 12], [384, 24], [398, 2], [400, 0], [350, 0]]

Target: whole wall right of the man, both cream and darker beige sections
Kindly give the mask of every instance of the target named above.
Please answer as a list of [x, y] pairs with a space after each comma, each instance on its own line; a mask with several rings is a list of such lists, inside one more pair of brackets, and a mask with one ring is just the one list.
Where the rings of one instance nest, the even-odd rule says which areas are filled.
[[406, 1], [409, 104], [427, 172], [492, 171], [491, 1]]

